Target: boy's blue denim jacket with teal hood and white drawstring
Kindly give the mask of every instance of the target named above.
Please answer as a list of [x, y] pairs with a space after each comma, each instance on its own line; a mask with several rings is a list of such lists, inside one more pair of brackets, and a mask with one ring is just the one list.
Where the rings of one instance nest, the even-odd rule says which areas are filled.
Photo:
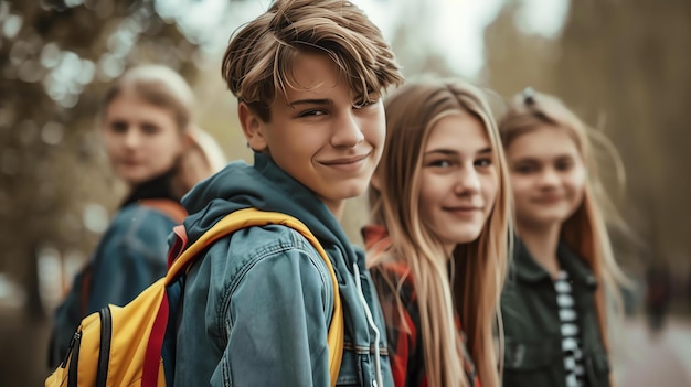
[[[364, 254], [353, 249], [310, 190], [267, 155], [255, 154], [254, 166], [231, 163], [182, 203], [191, 214], [184, 221], [190, 243], [240, 208], [302, 221], [331, 258], [339, 281], [346, 342], [338, 384], [393, 386]], [[251, 227], [217, 240], [185, 278], [174, 385], [329, 386], [333, 291], [318, 252], [290, 228]]]

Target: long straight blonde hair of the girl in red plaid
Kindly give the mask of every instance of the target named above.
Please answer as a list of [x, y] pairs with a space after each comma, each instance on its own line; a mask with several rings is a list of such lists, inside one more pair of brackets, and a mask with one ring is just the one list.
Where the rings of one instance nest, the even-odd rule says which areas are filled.
[[[421, 314], [425, 369], [429, 386], [466, 386], [460, 318], [468, 351], [482, 386], [499, 386], [499, 358], [492, 324], [507, 270], [510, 195], [507, 164], [497, 126], [483, 93], [458, 80], [410, 83], [385, 101], [386, 143], [370, 187], [375, 224], [391, 236], [385, 250], [370, 250], [372, 270], [387, 276], [382, 264], [402, 261], [415, 284]], [[495, 153], [499, 190], [480, 236], [458, 245], [448, 280], [446, 254], [419, 219], [422, 155], [434, 125], [455, 111], [468, 111], [486, 129]], [[401, 303], [398, 300], [398, 308]]]

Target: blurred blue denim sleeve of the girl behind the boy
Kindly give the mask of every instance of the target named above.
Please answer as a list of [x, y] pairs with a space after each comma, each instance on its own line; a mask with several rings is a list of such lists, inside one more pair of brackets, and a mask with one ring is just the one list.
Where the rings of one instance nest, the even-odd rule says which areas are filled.
[[138, 205], [116, 215], [94, 257], [88, 313], [108, 303], [121, 307], [166, 275], [173, 226], [168, 216]]

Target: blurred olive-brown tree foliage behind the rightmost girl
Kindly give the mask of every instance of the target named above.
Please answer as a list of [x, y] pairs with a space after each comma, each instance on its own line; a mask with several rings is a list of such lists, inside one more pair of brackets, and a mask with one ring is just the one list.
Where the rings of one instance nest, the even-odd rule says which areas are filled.
[[[507, 1], [486, 32], [490, 85], [503, 96], [525, 85], [560, 96], [621, 153], [626, 197], [608, 191], [642, 244], [615, 235], [625, 266], [645, 259], [688, 272], [691, 164], [685, 107], [691, 103], [691, 2], [571, 1], [561, 36], [545, 41], [517, 28], [522, 1]], [[612, 163], [603, 159], [603, 163]], [[603, 165], [605, 172], [612, 164]], [[626, 200], [626, 201], [624, 201]]]

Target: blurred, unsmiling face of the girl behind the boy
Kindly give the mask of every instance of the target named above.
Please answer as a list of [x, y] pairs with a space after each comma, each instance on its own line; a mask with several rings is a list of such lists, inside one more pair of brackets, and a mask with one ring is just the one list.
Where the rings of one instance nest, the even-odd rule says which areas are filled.
[[168, 172], [183, 149], [172, 111], [128, 92], [110, 101], [102, 132], [115, 173], [130, 186]]

